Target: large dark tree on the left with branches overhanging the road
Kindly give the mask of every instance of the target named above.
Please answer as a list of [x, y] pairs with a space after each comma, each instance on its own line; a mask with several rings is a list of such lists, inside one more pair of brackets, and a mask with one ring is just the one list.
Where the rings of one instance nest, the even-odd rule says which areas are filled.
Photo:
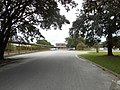
[[[67, 10], [76, 6], [72, 0], [0, 0], [0, 60], [4, 59], [4, 51], [10, 38], [22, 35], [24, 40], [42, 36], [42, 29], [62, 27], [69, 23], [60, 15], [58, 2]], [[19, 33], [19, 34], [18, 34]]]

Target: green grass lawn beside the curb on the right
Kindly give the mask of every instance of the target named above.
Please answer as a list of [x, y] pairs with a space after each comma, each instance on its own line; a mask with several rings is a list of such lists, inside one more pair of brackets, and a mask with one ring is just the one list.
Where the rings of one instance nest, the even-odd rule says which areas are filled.
[[114, 55], [107, 56], [106, 52], [90, 52], [80, 56], [120, 74], [120, 52], [114, 52]]

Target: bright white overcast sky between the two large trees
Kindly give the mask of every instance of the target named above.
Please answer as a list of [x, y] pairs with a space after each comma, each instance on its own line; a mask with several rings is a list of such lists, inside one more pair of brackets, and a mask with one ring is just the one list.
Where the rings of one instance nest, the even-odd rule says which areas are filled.
[[76, 9], [80, 9], [82, 7], [83, 0], [74, 0], [76, 3], [78, 3], [78, 6], [74, 9], [71, 9], [69, 12], [66, 12], [64, 7], [60, 7], [60, 14], [65, 15], [66, 18], [70, 21], [70, 24], [65, 24], [62, 27], [62, 30], [41, 30], [41, 34], [45, 37], [47, 41], [49, 41], [52, 45], [55, 45], [56, 43], [64, 43], [65, 38], [69, 37], [69, 28], [72, 26], [72, 22], [76, 20]]

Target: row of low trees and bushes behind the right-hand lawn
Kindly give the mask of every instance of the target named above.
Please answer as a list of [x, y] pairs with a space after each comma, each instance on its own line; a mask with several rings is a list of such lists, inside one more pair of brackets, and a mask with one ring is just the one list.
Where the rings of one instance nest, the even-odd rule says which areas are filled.
[[[100, 40], [98, 40], [96, 43], [94, 42], [94, 44], [88, 43], [87, 39], [83, 38], [83, 37], [67, 37], [66, 39], [66, 43], [67, 43], [67, 48], [74, 48], [75, 50], [90, 50], [92, 48], [96, 49], [96, 52], [99, 52], [99, 49], [101, 48], [102, 50], [106, 50], [107, 49], [107, 41], [104, 42], [100, 42]], [[120, 50], [120, 37], [119, 36], [115, 36], [113, 38], [113, 49], [119, 49]]]

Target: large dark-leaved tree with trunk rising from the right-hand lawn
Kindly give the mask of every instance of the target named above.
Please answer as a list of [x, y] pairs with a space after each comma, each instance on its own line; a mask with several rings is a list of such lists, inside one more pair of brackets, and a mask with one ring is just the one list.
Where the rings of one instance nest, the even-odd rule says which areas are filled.
[[[106, 37], [109, 56], [113, 55], [113, 34], [117, 34], [120, 29], [120, 13], [117, 12], [120, 11], [119, 5], [119, 0], [84, 0], [83, 10], [79, 16], [81, 22], [83, 21], [81, 17], [85, 15], [82, 25], [87, 28], [83, 31], [86, 38], [90, 38], [87, 39], [89, 42], [97, 41], [102, 36]], [[77, 20], [75, 22], [78, 22]], [[74, 29], [75, 32], [79, 30]]]

